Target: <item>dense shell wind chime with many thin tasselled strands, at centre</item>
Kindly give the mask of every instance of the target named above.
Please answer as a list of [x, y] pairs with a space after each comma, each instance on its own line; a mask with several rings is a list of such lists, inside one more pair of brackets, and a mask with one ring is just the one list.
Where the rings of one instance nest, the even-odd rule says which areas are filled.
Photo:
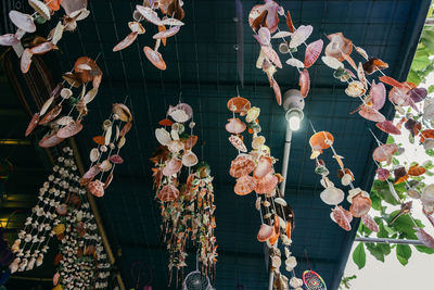
[[[159, 147], [151, 157], [155, 199], [161, 204], [163, 240], [169, 251], [169, 283], [173, 270], [178, 273], [187, 266], [189, 240], [197, 247], [196, 259], [203, 275], [214, 279], [217, 263], [213, 177], [209, 166], [205, 162], [199, 163], [192, 151], [197, 142], [192, 117], [193, 110], [189, 104], [170, 106], [167, 118], [158, 123], [162, 127], [155, 130]], [[190, 133], [186, 128], [189, 121]], [[188, 177], [182, 182], [184, 167]]]

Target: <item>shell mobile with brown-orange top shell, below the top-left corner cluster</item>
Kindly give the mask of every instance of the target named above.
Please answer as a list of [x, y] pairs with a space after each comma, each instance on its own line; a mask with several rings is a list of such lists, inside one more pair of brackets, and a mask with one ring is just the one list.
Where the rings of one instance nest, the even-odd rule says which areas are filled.
[[[81, 121], [88, 114], [88, 103], [97, 97], [102, 72], [92, 59], [81, 56], [75, 62], [73, 72], [63, 74], [63, 79], [64, 81], [53, 89], [40, 111], [34, 114], [25, 133], [27, 137], [38, 125], [48, 127], [50, 130], [39, 141], [42, 148], [56, 146], [82, 129]], [[87, 91], [86, 88], [90, 83], [92, 89]], [[77, 92], [73, 91], [74, 88]], [[67, 114], [62, 114], [63, 103], [66, 100], [75, 109], [77, 117], [73, 117], [73, 109]]]

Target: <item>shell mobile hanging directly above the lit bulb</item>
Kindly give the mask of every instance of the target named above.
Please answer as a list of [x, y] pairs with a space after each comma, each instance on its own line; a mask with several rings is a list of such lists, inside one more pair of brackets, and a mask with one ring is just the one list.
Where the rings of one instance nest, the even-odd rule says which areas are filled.
[[[285, 17], [289, 31], [279, 29], [280, 16]], [[282, 104], [282, 94], [273, 75], [276, 74], [277, 68], [282, 68], [282, 63], [279, 54], [272, 48], [272, 39], [279, 39], [281, 41], [279, 43], [280, 53], [290, 54], [291, 58], [286, 61], [286, 64], [298, 71], [301, 93], [303, 98], [306, 98], [310, 87], [310, 77], [307, 68], [312, 66], [318, 60], [323, 47], [322, 39], [318, 39], [309, 45], [306, 43], [307, 39], [314, 31], [314, 27], [311, 25], [301, 25], [298, 28], [295, 28], [290, 12], [288, 11], [285, 14], [283, 7], [280, 7], [275, 1], [268, 0], [265, 1], [265, 4], [253, 7], [248, 14], [248, 24], [255, 33], [255, 39], [260, 45], [260, 52], [256, 61], [256, 67], [263, 70], [267, 75], [278, 104]], [[273, 35], [271, 36], [271, 34]], [[304, 62], [293, 55], [302, 45], [306, 47]]]

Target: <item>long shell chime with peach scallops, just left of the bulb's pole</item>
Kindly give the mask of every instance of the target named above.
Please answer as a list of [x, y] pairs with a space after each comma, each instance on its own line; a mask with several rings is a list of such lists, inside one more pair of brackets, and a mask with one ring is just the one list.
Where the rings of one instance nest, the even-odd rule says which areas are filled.
[[[228, 119], [226, 130], [231, 134], [230, 143], [238, 150], [239, 155], [232, 161], [229, 174], [237, 178], [234, 192], [238, 196], [246, 196], [255, 191], [256, 210], [259, 211], [261, 225], [257, 234], [259, 242], [266, 242], [271, 260], [271, 272], [275, 276], [276, 289], [289, 289], [289, 279], [281, 272], [282, 253], [278, 248], [279, 239], [284, 245], [284, 266], [292, 272], [297, 262], [290, 251], [291, 234], [294, 229], [294, 213], [283, 197], [280, 197], [278, 184], [283, 180], [280, 174], [275, 173], [276, 159], [266, 146], [266, 138], [261, 135], [258, 122], [260, 109], [251, 106], [247, 99], [234, 97], [228, 101], [228, 109], [232, 112], [232, 118]], [[245, 117], [245, 122], [235, 117], [235, 114]], [[248, 129], [247, 129], [248, 128]], [[242, 133], [248, 130], [252, 134], [252, 150], [247, 153]], [[265, 214], [263, 215], [263, 211]], [[290, 285], [298, 285], [303, 280], [293, 277]]]

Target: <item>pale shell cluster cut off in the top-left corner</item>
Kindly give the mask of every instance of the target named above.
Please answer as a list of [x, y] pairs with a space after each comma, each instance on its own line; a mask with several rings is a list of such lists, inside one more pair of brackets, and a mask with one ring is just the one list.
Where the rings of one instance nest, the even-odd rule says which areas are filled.
[[21, 71], [23, 74], [30, 68], [33, 55], [44, 54], [51, 50], [56, 50], [59, 40], [62, 39], [64, 31], [74, 31], [77, 28], [77, 22], [89, 16], [90, 12], [86, 9], [87, 1], [61, 1], [61, 0], [28, 0], [28, 4], [35, 10], [29, 15], [15, 10], [9, 12], [10, 21], [17, 27], [15, 34], [5, 34], [0, 36], [0, 46], [15, 46], [26, 33], [35, 33], [36, 24], [42, 24], [51, 20], [54, 12], [59, 11], [61, 5], [65, 10], [62, 21], [50, 31], [47, 39], [37, 37], [29, 42], [21, 55]]

